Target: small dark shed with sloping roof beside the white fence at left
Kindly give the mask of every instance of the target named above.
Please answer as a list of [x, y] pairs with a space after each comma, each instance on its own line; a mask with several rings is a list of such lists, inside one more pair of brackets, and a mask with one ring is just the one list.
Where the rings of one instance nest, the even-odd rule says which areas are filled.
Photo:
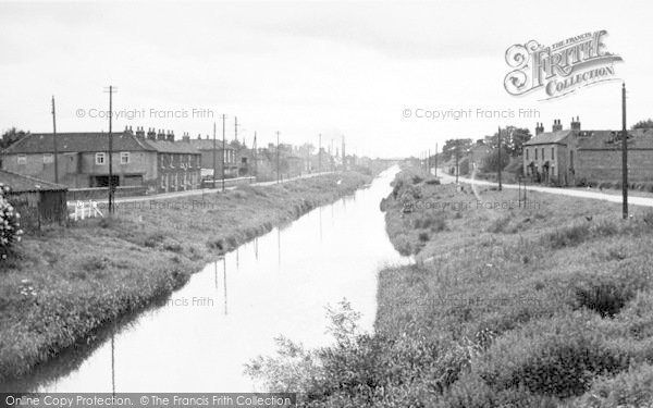
[[10, 188], [5, 197], [21, 214], [24, 230], [67, 220], [67, 187], [5, 170], [0, 170], [0, 183]]

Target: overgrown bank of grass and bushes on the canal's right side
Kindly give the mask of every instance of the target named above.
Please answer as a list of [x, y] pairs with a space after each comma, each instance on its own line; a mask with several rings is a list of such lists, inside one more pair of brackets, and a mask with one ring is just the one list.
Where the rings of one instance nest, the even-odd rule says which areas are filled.
[[528, 198], [402, 173], [382, 208], [418, 261], [381, 271], [375, 333], [341, 324], [320, 350], [286, 341], [249, 372], [293, 368], [268, 385], [292, 384], [305, 406], [653, 404], [653, 213], [624, 221], [619, 205]]

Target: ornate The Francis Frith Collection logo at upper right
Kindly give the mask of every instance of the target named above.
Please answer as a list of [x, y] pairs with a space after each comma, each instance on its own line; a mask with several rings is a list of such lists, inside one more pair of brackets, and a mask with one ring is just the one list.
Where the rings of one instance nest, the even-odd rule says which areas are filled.
[[614, 64], [623, 59], [607, 52], [606, 35], [606, 30], [584, 33], [550, 47], [535, 40], [514, 45], [506, 51], [506, 62], [515, 69], [504, 79], [506, 90], [519, 96], [543, 88], [544, 99], [553, 99], [588, 85], [618, 81]]

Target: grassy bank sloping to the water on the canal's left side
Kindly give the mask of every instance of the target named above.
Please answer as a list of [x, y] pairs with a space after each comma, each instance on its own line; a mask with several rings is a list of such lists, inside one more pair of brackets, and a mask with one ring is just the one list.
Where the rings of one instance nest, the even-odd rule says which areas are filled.
[[0, 263], [0, 383], [181, 287], [206, 262], [370, 181], [349, 172], [119, 205], [26, 236]]

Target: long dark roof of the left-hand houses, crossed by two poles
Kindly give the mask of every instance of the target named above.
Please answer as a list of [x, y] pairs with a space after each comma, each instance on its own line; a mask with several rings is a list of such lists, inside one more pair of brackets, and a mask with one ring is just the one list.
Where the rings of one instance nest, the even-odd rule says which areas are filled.
[[[57, 151], [67, 152], [90, 152], [109, 150], [108, 133], [58, 133]], [[153, 150], [151, 146], [144, 143], [128, 132], [113, 134], [113, 150], [134, 151], [134, 150]], [[51, 153], [54, 151], [54, 144], [51, 133], [33, 133], [25, 135], [22, 139], [14, 143], [4, 150], [4, 153]]]

